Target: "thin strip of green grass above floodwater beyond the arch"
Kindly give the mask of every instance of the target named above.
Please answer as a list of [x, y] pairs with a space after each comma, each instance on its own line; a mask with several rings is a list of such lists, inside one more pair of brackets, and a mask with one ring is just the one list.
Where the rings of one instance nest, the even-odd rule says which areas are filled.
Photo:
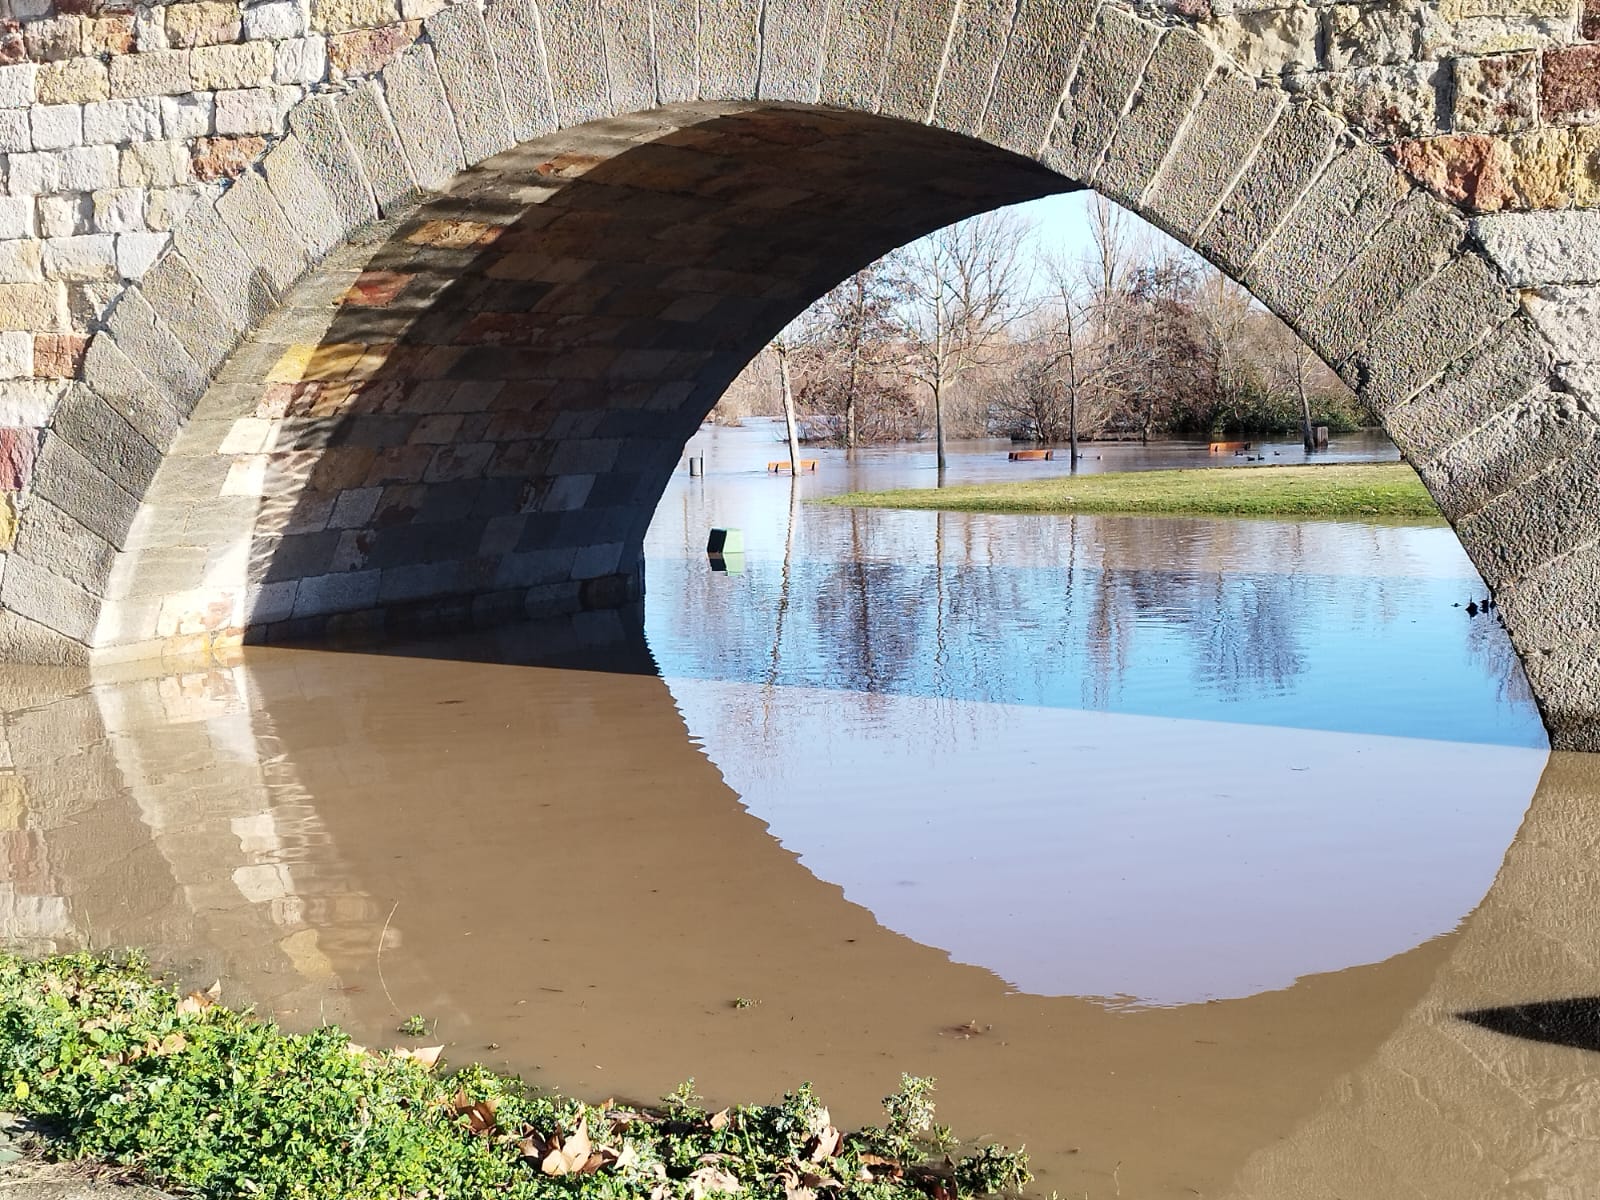
[[1422, 482], [1403, 462], [1107, 472], [957, 488], [851, 491], [814, 502], [944, 512], [1440, 520]]

